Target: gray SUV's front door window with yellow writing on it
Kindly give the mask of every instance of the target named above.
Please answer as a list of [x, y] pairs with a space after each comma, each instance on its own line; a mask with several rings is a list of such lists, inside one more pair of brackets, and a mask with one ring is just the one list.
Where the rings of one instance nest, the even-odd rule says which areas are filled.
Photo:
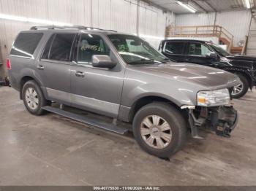
[[78, 45], [78, 63], [91, 63], [93, 55], [110, 55], [110, 49], [100, 36], [82, 34]]

